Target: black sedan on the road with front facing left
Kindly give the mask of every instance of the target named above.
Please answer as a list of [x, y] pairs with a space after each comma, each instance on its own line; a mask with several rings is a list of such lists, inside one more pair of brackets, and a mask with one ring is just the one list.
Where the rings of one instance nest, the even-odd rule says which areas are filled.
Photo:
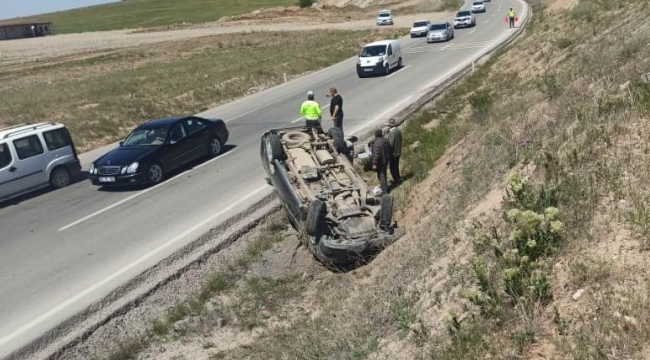
[[217, 156], [228, 141], [223, 120], [196, 116], [151, 120], [90, 165], [93, 185], [155, 185], [194, 160]]

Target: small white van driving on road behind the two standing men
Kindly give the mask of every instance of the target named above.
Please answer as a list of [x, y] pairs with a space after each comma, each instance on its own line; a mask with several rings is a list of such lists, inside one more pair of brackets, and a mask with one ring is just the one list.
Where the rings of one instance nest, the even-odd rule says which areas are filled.
[[363, 47], [357, 60], [357, 75], [388, 75], [402, 67], [402, 49], [397, 40], [381, 40]]

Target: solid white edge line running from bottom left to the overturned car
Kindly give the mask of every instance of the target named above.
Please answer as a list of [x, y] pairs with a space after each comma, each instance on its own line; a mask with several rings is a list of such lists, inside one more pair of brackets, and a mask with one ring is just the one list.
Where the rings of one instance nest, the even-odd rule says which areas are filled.
[[199, 222], [198, 224], [192, 226], [191, 228], [185, 230], [183, 233], [177, 235], [176, 237], [174, 237], [173, 239], [167, 241], [166, 243], [164, 243], [164, 244], [158, 246], [157, 248], [153, 249], [153, 250], [150, 251], [149, 253], [147, 253], [147, 254], [145, 254], [145, 255], [139, 257], [138, 259], [136, 259], [135, 261], [133, 261], [133, 262], [130, 263], [129, 265], [127, 265], [127, 266], [125, 266], [125, 267], [123, 267], [123, 268], [121, 268], [121, 269], [115, 271], [115, 272], [112, 273], [111, 275], [105, 277], [103, 280], [101, 280], [101, 281], [99, 281], [99, 282], [96, 282], [96, 283], [93, 284], [91, 287], [89, 287], [89, 288], [83, 290], [82, 292], [76, 294], [75, 296], [71, 297], [70, 299], [64, 301], [63, 303], [61, 303], [61, 304], [59, 304], [59, 305], [57, 305], [55, 308], [53, 308], [53, 309], [47, 311], [46, 313], [40, 315], [40, 316], [37, 317], [36, 319], [34, 319], [34, 320], [28, 322], [27, 324], [25, 324], [25, 325], [23, 325], [22, 327], [20, 327], [18, 330], [14, 331], [14, 332], [12, 332], [11, 334], [9, 334], [9, 335], [5, 336], [4, 338], [0, 339], [0, 346], [3, 346], [3, 345], [5, 345], [5, 344], [7, 344], [7, 343], [13, 341], [13, 340], [14, 340], [15, 338], [17, 338], [18, 336], [20, 336], [20, 335], [22, 335], [23, 333], [29, 331], [29, 330], [32, 329], [33, 327], [35, 327], [35, 326], [37, 326], [38, 324], [42, 323], [43, 321], [45, 321], [45, 320], [51, 318], [52, 316], [56, 315], [56, 313], [60, 312], [61, 310], [65, 309], [65, 308], [67, 308], [68, 306], [74, 304], [75, 302], [77, 302], [77, 301], [83, 299], [85, 296], [88, 296], [88, 295], [91, 294], [93, 291], [96, 291], [96, 290], [102, 288], [103, 286], [105, 286], [106, 284], [110, 283], [111, 281], [117, 279], [118, 277], [120, 277], [120, 276], [126, 274], [128, 271], [134, 269], [134, 268], [137, 267], [138, 265], [140, 265], [140, 264], [142, 264], [143, 262], [149, 260], [149, 259], [152, 258], [154, 255], [156, 255], [156, 254], [160, 253], [161, 251], [165, 250], [166, 248], [168, 248], [168, 247], [174, 245], [176, 242], [182, 240], [183, 238], [185, 238], [185, 237], [188, 236], [189, 234], [193, 233], [194, 231], [200, 229], [201, 227], [203, 227], [203, 226], [209, 224], [210, 222], [213, 222], [214, 220], [216, 220], [216, 219], [217, 219], [218, 217], [220, 217], [221, 215], [230, 212], [232, 209], [234, 209], [234, 208], [235, 208], [236, 206], [238, 206], [239, 204], [241, 204], [241, 203], [243, 203], [244, 201], [246, 201], [246, 200], [252, 198], [253, 196], [257, 195], [258, 193], [260, 193], [261, 191], [263, 191], [263, 190], [265, 190], [265, 189], [267, 189], [267, 188], [268, 188], [268, 185], [264, 185], [264, 186], [262, 186], [262, 187], [257, 188], [256, 190], [253, 190], [252, 192], [248, 193], [248, 195], [246, 195], [246, 196], [244, 196], [243, 198], [239, 199], [239, 200], [238, 200], [237, 202], [235, 202], [234, 204], [229, 205], [228, 207], [224, 208], [223, 210], [221, 210], [221, 211], [215, 213], [214, 215], [208, 217], [207, 219], [205, 219], [205, 220]]

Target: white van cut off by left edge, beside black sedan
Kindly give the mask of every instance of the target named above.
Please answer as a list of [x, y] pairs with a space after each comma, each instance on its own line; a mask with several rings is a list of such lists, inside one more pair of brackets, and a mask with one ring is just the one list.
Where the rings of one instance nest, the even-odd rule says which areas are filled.
[[0, 129], [0, 201], [50, 185], [68, 186], [80, 170], [77, 151], [63, 124]]

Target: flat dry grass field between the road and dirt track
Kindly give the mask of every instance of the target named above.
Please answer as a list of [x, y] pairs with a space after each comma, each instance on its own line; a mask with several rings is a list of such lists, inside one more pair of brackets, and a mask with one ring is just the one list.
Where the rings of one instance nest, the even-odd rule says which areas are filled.
[[[144, 120], [192, 114], [354, 55], [385, 31], [245, 33], [169, 42], [24, 71], [0, 71], [0, 126], [65, 123], [81, 150]], [[306, 43], [324, 44], [314, 58]], [[281, 49], [280, 51], [278, 49]]]

